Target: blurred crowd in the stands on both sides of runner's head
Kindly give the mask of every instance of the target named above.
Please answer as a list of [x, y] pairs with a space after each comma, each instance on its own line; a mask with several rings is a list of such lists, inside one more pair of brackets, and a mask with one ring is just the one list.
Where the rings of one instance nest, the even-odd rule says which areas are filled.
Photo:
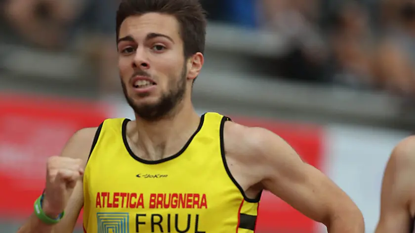
[[[253, 58], [261, 72], [405, 97], [415, 94], [415, 0], [201, 1], [211, 22], [288, 38], [290, 49], [282, 56]], [[1, 41], [50, 51], [76, 49], [96, 67], [103, 89], [114, 86], [117, 0], [0, 4], [5, 11]]]

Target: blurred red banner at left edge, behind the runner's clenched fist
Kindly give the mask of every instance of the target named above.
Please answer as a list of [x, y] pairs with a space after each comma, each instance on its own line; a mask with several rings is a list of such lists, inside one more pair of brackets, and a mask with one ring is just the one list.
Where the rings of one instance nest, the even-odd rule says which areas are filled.
[[98, 126], [105, 108], [93, 103], [0, 95], [0, 214], [33, 211], [44, 187], [47, 157], [59, 155], [77, 130]]

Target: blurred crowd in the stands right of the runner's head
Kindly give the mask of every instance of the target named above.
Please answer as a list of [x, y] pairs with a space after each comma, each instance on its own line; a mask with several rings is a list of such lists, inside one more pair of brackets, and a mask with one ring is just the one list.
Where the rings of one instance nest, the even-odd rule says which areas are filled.
[[403, 96], [415, 93], [414, 0], [205, 2], [212, 20], [272, 30], [294, 43], [283, 57], [261, 61], [274, 69], [271, 73]]

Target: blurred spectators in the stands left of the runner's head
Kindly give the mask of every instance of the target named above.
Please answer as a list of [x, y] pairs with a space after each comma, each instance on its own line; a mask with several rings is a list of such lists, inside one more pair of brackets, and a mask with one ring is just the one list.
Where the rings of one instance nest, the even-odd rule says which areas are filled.
[[102, 91], [118, 87], [116, 0], [6, 0], [4, 7], [12, 32], [24, 44], [80, 51], [101, 78]]

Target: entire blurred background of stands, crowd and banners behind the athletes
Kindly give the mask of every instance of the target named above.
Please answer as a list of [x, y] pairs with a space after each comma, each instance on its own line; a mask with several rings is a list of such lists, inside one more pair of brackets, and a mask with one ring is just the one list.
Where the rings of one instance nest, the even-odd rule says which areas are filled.
[[[281, 135], [353, 198], [373, 233], [388, 155], [415, 129], [415, 1], [202, 3], [199, 113]], [[1, 233], [30, 215], [46, 158], [72, 133], [134, 117], [116, 67], [116, 8], [117, 0], [0, 0]], [[267, 193], [258, 221], [259, 233], [324, 232]]]

